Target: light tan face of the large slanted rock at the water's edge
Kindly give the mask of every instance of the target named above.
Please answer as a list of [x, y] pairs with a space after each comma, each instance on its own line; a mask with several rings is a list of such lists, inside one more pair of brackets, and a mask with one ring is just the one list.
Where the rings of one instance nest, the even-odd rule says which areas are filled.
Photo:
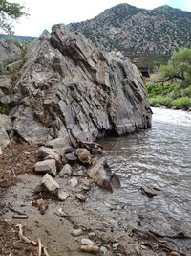
[[110, 176], [107, 174], [107, 170], [104, 168], [106, 164], [105, 158], [102, 157], [93, 167], [88, 169], [87, 174], [93, 178], [100, 187], [113, 192]]

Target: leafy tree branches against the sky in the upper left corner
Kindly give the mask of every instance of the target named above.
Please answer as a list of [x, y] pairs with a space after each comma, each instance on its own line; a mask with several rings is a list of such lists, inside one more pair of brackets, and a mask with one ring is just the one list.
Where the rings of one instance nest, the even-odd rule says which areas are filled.
[[24, 6], [0, 0], [0, 29], [4, 32], [13, 34], [12, 21], [19, 19], [23, 15], [27, 15]]

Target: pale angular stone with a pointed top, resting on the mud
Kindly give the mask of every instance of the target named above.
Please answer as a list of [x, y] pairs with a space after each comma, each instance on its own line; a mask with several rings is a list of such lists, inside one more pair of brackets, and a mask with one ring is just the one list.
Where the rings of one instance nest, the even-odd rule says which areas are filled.
[[42, 177], [39, 184], [35, 188], [35, 192], [49, 191], [56, 192], [59, 189], [59, 184], [49, 174]]

